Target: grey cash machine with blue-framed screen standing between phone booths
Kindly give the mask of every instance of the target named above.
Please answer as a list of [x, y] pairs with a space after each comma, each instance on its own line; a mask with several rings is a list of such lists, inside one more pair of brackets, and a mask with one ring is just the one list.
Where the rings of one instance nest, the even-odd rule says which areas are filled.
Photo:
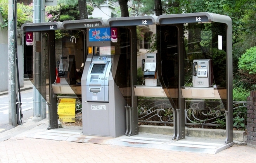
[[112, 76], [111, 47], [89, 48], [93, 48], [93, 52], [88, 52], [81, 78], [83, 134], [123, 136], [126, 132], [127, 104]]

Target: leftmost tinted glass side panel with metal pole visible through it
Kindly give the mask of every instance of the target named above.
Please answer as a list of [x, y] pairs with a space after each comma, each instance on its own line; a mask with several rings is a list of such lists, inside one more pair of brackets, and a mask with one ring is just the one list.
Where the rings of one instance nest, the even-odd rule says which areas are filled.
[[[47, 39], [48, 36], [46, 33], [34, 32], [33, 44], [24, 45], [24, 77], [28, 77], [35, 86], [35, 103], [39, 104], [42, 101], [49, 100], [49, 96], [46, 94], [48, 92], [46, 83], [48, 83], [49, 74], [49, 66], [48, 62], [46, 62], [46, 60], [48, 60]], [[24, 39], [24, 42], [26, 43], [26, 38]], [[45, 53], [45, 55], [42, 55], [43, 53]]]

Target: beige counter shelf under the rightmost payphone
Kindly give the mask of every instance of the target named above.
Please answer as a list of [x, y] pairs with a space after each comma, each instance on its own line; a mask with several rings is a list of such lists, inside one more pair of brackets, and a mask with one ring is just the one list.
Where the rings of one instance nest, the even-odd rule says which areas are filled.
[[182, 87], [182, 98], [227, 99], [227, 89], [213, 87]]

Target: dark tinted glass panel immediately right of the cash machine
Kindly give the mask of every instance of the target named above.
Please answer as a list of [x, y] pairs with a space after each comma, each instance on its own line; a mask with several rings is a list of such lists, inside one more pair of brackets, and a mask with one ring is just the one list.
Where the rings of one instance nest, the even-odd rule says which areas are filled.
[[[131, 104], [131, 46], [130, 39], [131, 33], [128, 28], [117, 28], [118, 38], [117, 43], [111, 42], [112, 57], [112, 75], [119, 90], [125, 97], [129, 106]], [[113, 49], [114, 48], [114, 49]]]

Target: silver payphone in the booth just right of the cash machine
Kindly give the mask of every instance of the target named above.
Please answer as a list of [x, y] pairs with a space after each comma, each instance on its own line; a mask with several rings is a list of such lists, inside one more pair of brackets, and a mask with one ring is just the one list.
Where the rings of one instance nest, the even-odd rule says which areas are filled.
[[157, 86], [156, 53], [146, 53], [142, 60], [145, 86]]

